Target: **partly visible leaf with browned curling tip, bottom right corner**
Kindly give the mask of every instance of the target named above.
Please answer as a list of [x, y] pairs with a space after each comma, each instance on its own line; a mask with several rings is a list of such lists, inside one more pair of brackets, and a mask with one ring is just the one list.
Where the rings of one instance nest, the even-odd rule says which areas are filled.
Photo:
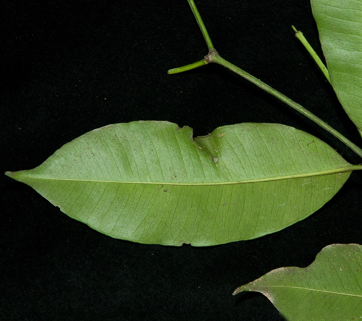
[[263, 293], [287, 320], [361, 320], [362, 246], [328, 245], [306, 268], [281, 267], [235, 290]]

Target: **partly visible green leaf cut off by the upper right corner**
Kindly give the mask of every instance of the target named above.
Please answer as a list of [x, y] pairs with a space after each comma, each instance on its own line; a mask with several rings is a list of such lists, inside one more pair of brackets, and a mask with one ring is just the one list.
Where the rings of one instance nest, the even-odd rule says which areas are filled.
[[361, 134], [362, 0], [311, 0], [311, 6], [331, 84]]

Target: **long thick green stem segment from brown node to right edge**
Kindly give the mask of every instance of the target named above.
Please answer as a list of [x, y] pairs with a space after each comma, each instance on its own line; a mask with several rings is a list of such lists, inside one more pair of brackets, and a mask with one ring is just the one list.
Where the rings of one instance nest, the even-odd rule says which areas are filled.
[[345, 143], [349, 148], [351, 148], [355, 153], [357, 153], [360, 157], [362, 157], [362, 149], [359, 148], [356, 144], [352, 143], [348, 138], [343, 136], [340, 132], [336, 131], [334, 128], [329, 126], [327, 123], [322, 121], [319, 117], [311, 113], [309, 110], [305, 109], [301, 105], [297, 104], [295, 101], [292, 101], [287, 96], [279, 93], [277, 90], [271, 88], [267, 84], [263, 83], [259, 79], [255, 78], [254, 76], [250, 75], [246, 71], [236, 67], [235, 65], [231, 64], [230, 62], [226, 61], [225, 59], [221, 58], [218, 54], [212, 55], [212, 61], [218, 63], [231, 71], [237, 73], [241, 77], [249, 80], [254, 85], [257, 85], [259, 88], [265, 90], [266, 92], [270, 93], [274, 97], [277, 97], [279, 100], [285, 102], [287, 105], [291, 106], [295, 110], [298, 110], [304, 116], [307, 116], [313, 122], [319, 124], [319, 126], [323, 127], [325, 130], [329, 131], [332, 135], [336, 136], [341, 142]]

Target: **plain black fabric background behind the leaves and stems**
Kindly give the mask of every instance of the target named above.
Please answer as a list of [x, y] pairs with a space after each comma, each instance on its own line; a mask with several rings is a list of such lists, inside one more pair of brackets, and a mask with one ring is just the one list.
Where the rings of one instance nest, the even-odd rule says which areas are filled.
[[[361, 145], [323, 74], [308, 0], [205, 1], [219, 54]], [[186, 0], [2, 1], [1, 170], [41, 164], [94, 128], [167, 120], [194, 136], [241, 122], [308, 131], [353, 164], [344, 144], [276, 98], [210, 64], [178, 75], [207, 47]], [[196, 248], [102, 235], [29, 186], [1, 178], [1, 320], [283, 320], [260, 293], [236, 287], [282, 266], [305, 267], [332, 243], [362, 244], [361, 173], [323, 208], [280, 232]]]

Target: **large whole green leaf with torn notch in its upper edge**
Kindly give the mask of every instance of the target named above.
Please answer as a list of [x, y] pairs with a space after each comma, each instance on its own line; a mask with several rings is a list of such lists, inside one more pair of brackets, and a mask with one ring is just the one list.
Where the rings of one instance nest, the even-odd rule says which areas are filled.
[[279, 231], [323, 206], [355, 165], [280, 124], [236, 124], [192, 138], [157, 121], [105, 126], [32, 170], [7, 175], [106, 235], [197, 246]]

